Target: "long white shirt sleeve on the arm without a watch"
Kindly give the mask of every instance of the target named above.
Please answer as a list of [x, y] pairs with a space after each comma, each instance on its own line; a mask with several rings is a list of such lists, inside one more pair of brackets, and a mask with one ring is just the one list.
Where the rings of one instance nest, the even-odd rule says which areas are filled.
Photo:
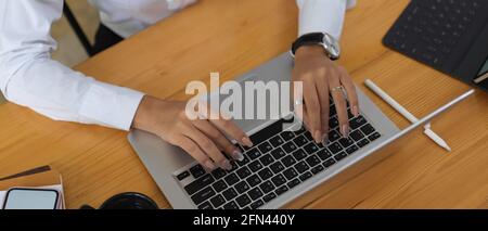
[[143, 93], [97, 81], [51, 60], [63, 0], [0, 1], [0, 89], [55, 120], [129, 130]]

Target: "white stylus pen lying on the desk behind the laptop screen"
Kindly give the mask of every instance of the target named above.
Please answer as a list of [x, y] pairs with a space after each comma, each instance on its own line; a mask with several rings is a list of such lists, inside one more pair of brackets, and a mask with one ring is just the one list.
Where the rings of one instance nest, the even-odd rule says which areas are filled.
[[[388, 103], [391, 107], [394, 107], [398, 113], [404, 116], [410, 123], [414, 124], [419, 121], [419, 119], [412, 115], [409, 111], [407, 111], [402, 105], [400, 105], [396, 100], [389, 97], [385, 91], [383, 91], [380, 87], [377, 87], [373, 81], [367, 79], [364, 85], [370, 88], [374, 93], [376, 93], [380, 98], [382, 98], [386, 103]], [[434, 142], [436, 142], [439, 146], [446, 149], [447, 151], [451, 151], [451, 147], [442, 140], [438, 134], [436, 134], [431, 129], [431, 124], [424, 126], [424, 134], [431, 138]]]

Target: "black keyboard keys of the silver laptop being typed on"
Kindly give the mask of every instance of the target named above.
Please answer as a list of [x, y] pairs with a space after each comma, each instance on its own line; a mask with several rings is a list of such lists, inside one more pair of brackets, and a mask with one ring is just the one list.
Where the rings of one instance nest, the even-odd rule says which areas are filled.
[[282, 130], [283, 123], [281, 119], [251, 136], [255, 145], [240, 146], [244, 159], [232, 161], [231, 170], [207, 174], [195, 164], [176, 179], [188, 182], [193, 177], [184, 191], [200, 209], [256, 209], [381, 137], [363, 116], [354, 117], [349, 111], [351, 132], [349, 139], [342, 138], [333, 104], [326, 146], [317, 144], [305, 128]]

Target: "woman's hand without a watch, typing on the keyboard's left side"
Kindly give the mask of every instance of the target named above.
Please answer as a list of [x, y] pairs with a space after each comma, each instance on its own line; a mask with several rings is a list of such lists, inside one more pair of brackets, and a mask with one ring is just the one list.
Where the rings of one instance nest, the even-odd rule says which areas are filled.
[[252, 146], [251, 139], [234, 123], [223, 119], [191, 120], [187, 116], [185, 106], [185, 102], [144, 97], [132, 126], [180, 146], [207, 170], [217, 167], [227, 170], [232, 168], [222, 152], [242, 161], [241, 150], [221, 132], [226, 132], [242, 145]]

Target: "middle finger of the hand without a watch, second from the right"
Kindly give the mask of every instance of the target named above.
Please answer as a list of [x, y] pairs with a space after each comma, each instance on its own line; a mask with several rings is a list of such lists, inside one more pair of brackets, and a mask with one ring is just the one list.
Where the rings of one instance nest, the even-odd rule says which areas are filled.
[[214, 125], [205, 119], [197, 119], [193, 125], [204, 132], [217, 146], [234, 159], [243, 161], [244, 156], [239, 147], [232, 144]]

